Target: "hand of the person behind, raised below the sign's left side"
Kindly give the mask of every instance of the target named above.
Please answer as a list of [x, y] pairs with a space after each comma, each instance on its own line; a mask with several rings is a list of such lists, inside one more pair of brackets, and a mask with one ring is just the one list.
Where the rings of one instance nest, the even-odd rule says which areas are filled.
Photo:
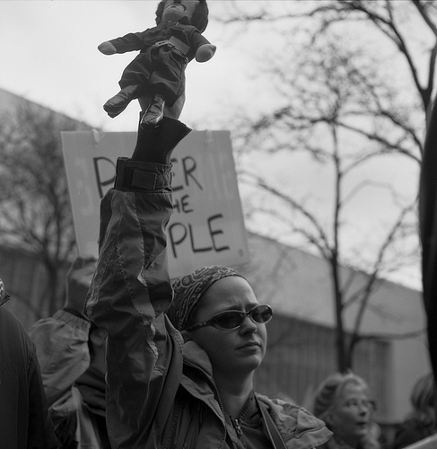
[[78, 256], [66, 275], [66, 304], [80, 313], [83, 313], [86, 294], [91, 286], [92, 276], [97, 267], [94, 257], [83, 258]]

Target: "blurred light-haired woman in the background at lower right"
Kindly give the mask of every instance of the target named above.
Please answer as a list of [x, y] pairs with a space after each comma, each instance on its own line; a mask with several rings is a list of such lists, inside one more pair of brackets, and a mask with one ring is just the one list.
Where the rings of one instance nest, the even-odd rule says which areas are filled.
[[380, 449], [380, 428], [372, 421], [375, 402], [358, 375], [330, 375], [314, 393], [312, 407], [334, 434], [323, 449]]

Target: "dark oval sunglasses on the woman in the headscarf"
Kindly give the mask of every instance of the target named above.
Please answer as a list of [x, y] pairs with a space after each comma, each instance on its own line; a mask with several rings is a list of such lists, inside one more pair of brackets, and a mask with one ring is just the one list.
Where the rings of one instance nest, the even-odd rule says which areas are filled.
[[229, 310], [218, 313], [209, 320], [197, 322], [197, 324], [189, 326], [186, 330], [195, 330], [205, 326], [213, 326], [215, 329], [237, 329], [247, 316], [253, 322], [266, 323], [272, 319], [273, 310], [269, 305], [257, 305], [250, 309], [249, 312]]

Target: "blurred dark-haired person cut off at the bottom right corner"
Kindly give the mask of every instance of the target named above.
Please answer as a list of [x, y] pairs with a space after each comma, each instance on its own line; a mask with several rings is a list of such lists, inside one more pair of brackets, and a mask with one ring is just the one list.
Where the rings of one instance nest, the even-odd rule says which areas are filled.
[[415, 383], [410, 401], [413, 410], [398, 428], [393, 449], [413, 445], [437, 432], [437, 394], [433, 373], [425, 374]]

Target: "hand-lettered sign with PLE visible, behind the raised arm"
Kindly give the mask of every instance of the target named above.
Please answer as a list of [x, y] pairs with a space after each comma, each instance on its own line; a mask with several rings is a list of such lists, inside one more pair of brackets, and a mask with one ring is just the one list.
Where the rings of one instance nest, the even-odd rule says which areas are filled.
[[[116, 161], [130, 157], [136, 133], [62, 132], [79, 254], [98, 254], [101, 198]], [[174, 212], [167, 228], [170, 276], [249, 260], [228, 131], [192, 131], [172, 154]]]

